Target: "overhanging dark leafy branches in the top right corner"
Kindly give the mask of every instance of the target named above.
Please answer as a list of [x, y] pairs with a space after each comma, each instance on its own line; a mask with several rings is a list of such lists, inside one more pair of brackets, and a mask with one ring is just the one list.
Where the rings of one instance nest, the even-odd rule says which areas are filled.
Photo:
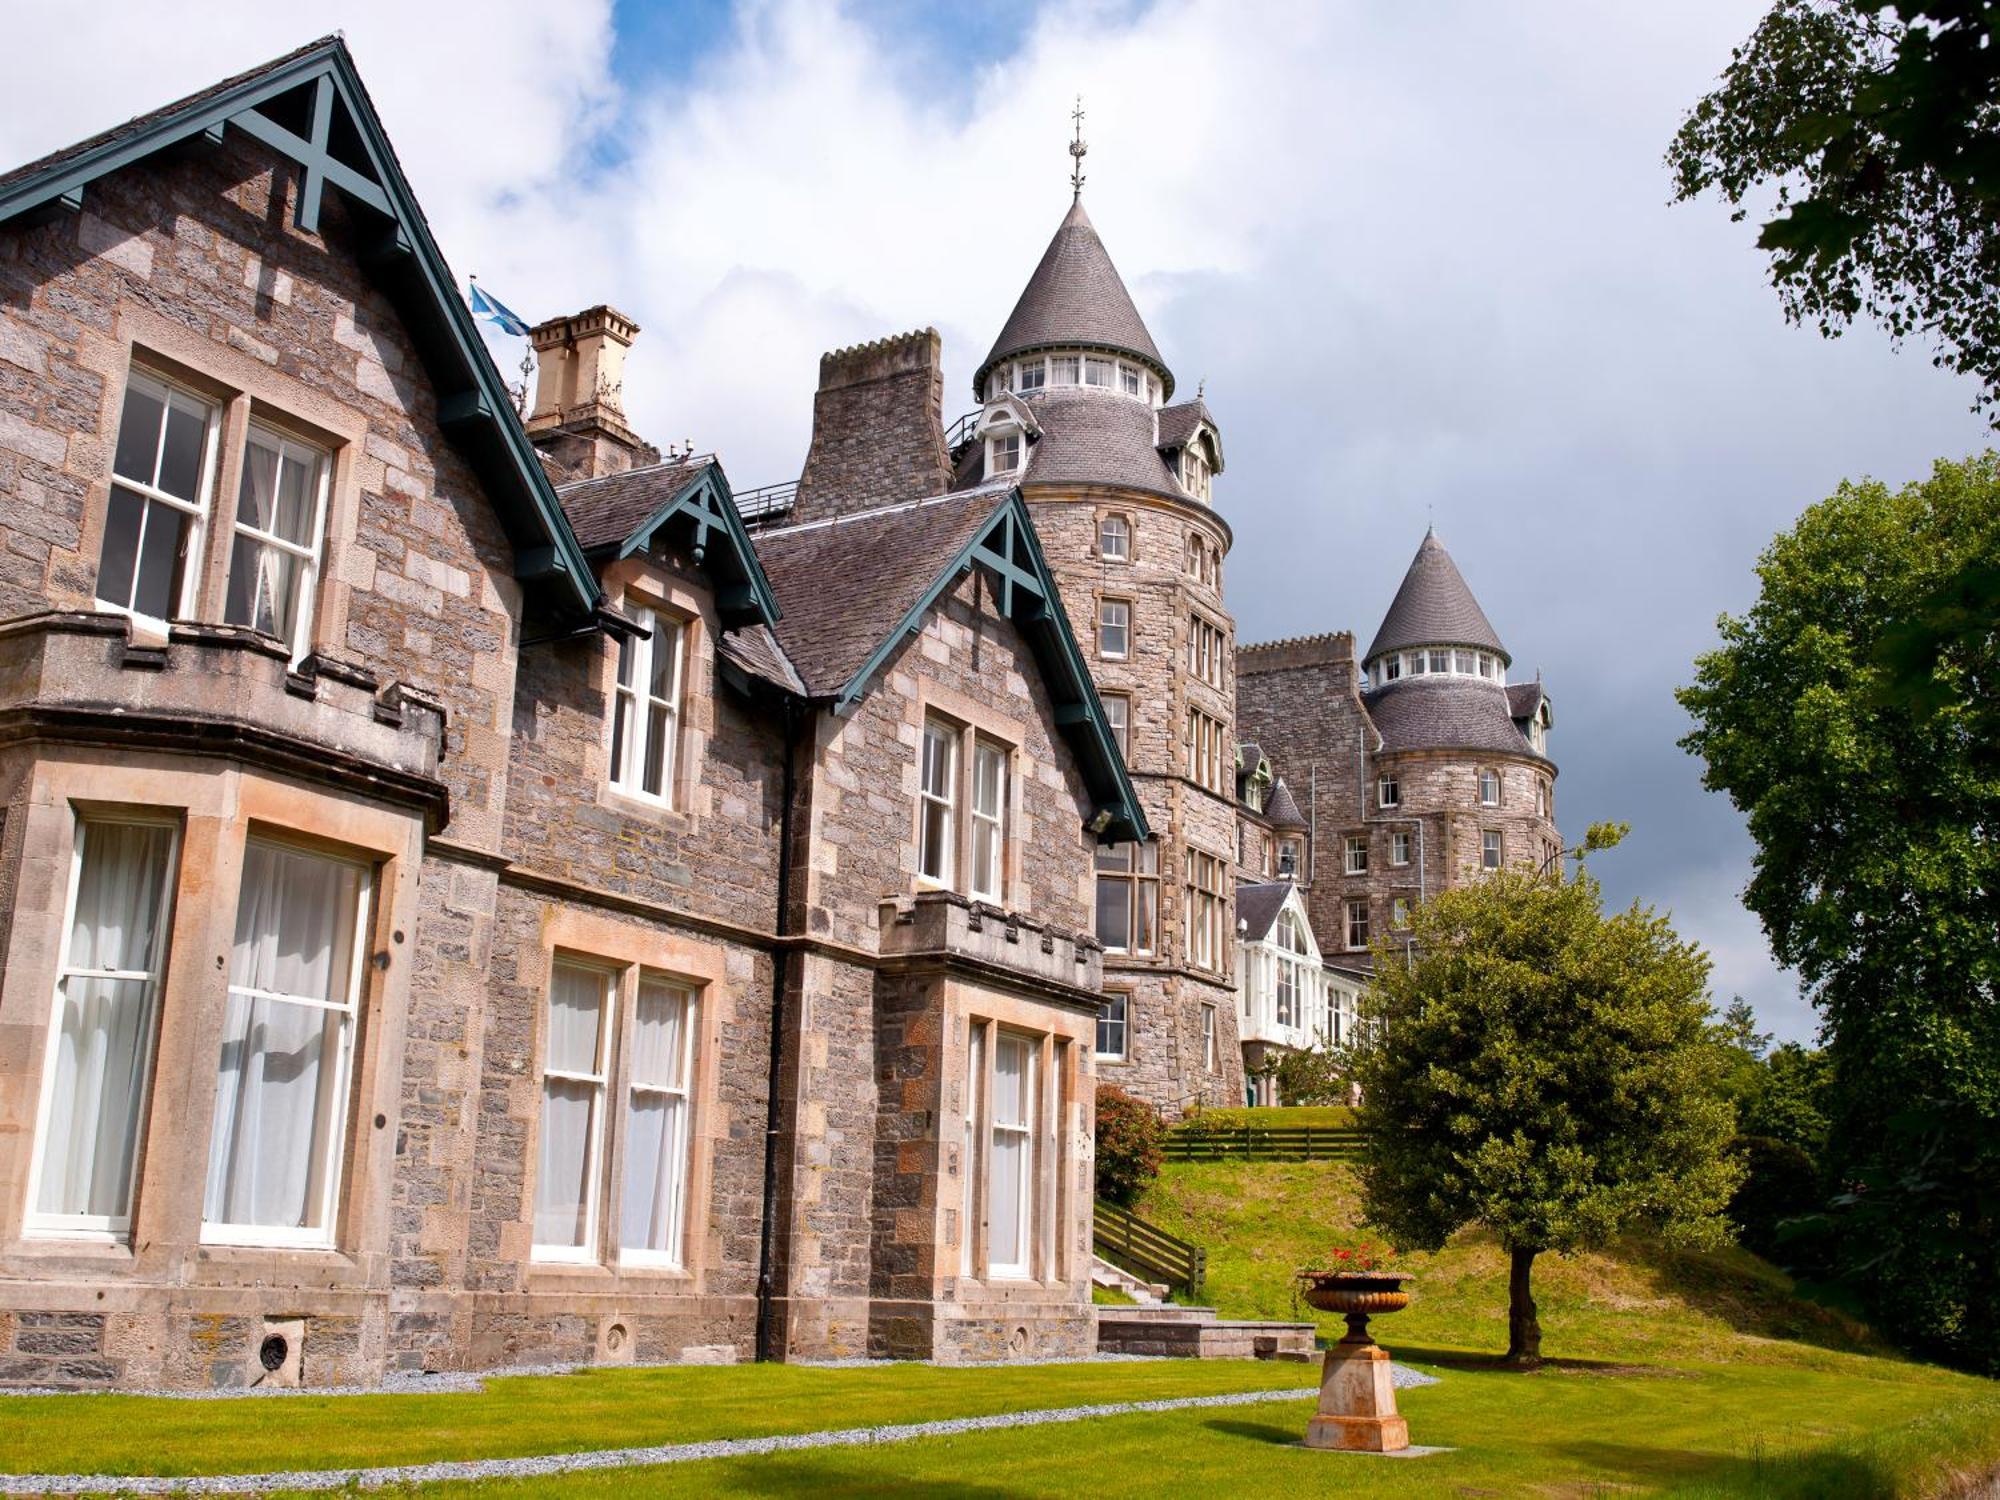
[[1778, 0], [1674, 136], [1674, 196], [1720, 194], [1792, 322], [1926, 334], [2000, 402], [2000, 8]]

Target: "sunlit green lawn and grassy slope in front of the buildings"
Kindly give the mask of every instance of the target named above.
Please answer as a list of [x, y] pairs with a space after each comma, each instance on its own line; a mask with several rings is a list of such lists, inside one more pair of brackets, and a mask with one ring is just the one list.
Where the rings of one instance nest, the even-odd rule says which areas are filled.
[[[1290, 1274], [1352, 1240], [1352, 1172], [1322, 1162], [1202, 1162], [1166, 1170], [1146, 1218], [1210, 1248], [1224, 1314], [1294, 1316]], [[906, 1444], [828, 1448], [644, 1474], [592, 1472], [536, 1494], [1194, 1496], [1228, 1492], [1476, 1496], [1672, 1494], [1874, 1500], [1944, 1496], [2000, 1470], [2000, 1384], [1900, 1360], [1866, 1330], [1798, 1300], [1738, 1254], [1624, 1244], [1536, 1268], [1536, 1374], [1492, 1366], [1506, 1266], [1478, 1236], [1410, 1256], [1406, 1312], [1378, 1336], [1442, 1382], [1402, 1392], [1420, 1444], [1388, 1462], [1292, 1446], [1310, 1400], [1096, 1418]], [[1310, 1310], [1298, 1308], [1300, 1316]], [[248, 1472], [432, 1458], [578, 1452], [872, 1422], [1292, 1388], [1296, 1364], [1144, 1362], [932, 1370], [796, 1366], [594, 1370], [494, 1380], [460, 1396], [306, 1396], [162, 1402], [124, 1396], [8, 1402], [0, 1470]], [[528, 1482], [432, 1486], [478, 1500]]]

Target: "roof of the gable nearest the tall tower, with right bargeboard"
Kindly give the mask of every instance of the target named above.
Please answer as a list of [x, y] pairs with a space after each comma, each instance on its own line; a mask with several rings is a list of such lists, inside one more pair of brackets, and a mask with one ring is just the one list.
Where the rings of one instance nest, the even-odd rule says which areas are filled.
[[852, 712], [874, 688], [966, 572], [986, 572], [1000, 612], [1042, 666], [1056, 730], [1104, 820], [1098, 836], [1148, 838], [1028, 504], [1012, 482], [760, 532], [756, 550], [784, 606], [778, 646], [806, 696], [836, 714]]

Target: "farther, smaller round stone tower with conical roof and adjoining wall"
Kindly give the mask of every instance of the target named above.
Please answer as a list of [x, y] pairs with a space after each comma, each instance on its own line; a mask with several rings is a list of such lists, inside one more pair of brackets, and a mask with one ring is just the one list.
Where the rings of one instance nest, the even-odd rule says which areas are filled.
[[1360, 664], [1346, 632], [1240, 648], [1236, 708], [1298, 788], [1296, 880], [1336, 976], [1364, 980], [1428, 896], [1556, 864], [1554, 716], [1510, 666], [1434, 532]]

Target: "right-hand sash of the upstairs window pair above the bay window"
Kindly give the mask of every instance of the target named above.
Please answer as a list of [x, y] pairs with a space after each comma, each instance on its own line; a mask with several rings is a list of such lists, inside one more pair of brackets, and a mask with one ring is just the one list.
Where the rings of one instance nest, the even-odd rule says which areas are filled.
[[222, 618], [278, 636], [294, 660], [312, 644], [326, 470], [326, 454], [318, 448], [270, 428], [250, 428]]

